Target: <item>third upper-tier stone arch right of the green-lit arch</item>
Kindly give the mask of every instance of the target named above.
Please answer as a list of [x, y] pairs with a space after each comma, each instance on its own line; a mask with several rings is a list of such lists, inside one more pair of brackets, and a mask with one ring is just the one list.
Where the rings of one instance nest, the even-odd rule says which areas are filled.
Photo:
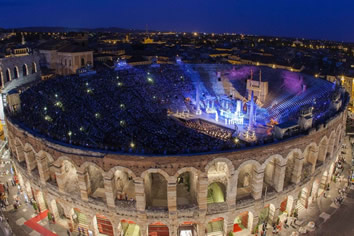
[[300, 149], [291, 150], [286, 156], [286, 169], [284, 177], [284, 187], [290, 184], [296, 184], [298, 181], [297, 175], [301, 171], [302, 162], [298, 161], [302, 157]]

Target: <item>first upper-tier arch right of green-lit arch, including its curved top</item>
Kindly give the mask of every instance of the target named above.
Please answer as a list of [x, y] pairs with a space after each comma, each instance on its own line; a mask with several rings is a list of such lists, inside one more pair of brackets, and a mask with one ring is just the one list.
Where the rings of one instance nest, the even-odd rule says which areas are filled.
[[247, 160], [235, 171], [237, 176], [237, 195], [236, 202], [252, 199], [254, 178], [256, 177], [255, 170], [261, 169], [261, 164], [255, 160]]

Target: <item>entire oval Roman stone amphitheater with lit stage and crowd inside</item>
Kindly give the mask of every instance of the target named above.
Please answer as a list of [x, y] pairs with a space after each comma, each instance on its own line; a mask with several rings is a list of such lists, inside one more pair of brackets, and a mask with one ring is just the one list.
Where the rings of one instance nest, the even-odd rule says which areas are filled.
[[[48, 209], [53, 213], [58, 224], [75, 232], [79, 230], [85, 232], [85, 235], [89, 235], [89, 232], [92, 232], [93, 235], [202, 236], [228, 235], [230, 232], [238, 235], [240, 232], [254, 232], [257, 226], [265, 221], [276, 222], [283, 214], [291, 214], [295, 209], [298, 211], [306, 209], [311, 202], [322, 194], [333, 173], [334, 162], [338, 158], [338, 152], [345, 135], [348, 95], [342, 92], [342, 103], [336, 109], [329, 103], [326, 103], [325, 108], [319, 105], [319, 103], [327, 102], [322, 101], [322, 97], [328, 99], [331, 96], [316, 98], [317, 103], [313, 103], [314, 120], [310, 126], [303, 127], [302, 131], [294, 131], [291, 135], [285, 132], [288, 134], [288, 136], [285, 135], [286, 137], [274, 138], [274, 133], [271, 135], [268, 133], [269, 130], [262, 129], [263, 126], [268, 126], [266, 124], [261, 125], [262, 121], [258, 120], [260, 117], [262, 119], [268, 117], [263, 114], [264, 111], [263, 115], [257, 115], [257, 118], [254, 119], [254, 126], [251, 127], [250, 123], [253, 122], [251, 122], [253, 93], [252, 97], [247, 99], [246, 92], [238, 89], [238, 95], [233, 93], [234, 98], [237, 97], [237, 99], [242, 100], [242, 103], [246, 104], [245, 106], [248, 102], [251, 102], [251, 109], [247, 109], [247, 113], [244, 112], [245, 116], [250, 114], [248, 118], [250, 121], [246, 124], [245, 118], [245, 124], [239, 126], [248, 127], [245, 132], [254, 132], [253, 135], [257, 136], [257, 141], [242, 138], [242, 130], [239, 130], [239, 138], [237, 138], [234, 136], [234, 131], [231, 130], [231, 133], [228, 133], [230, 127], [235, 127], [232, 123], [233, 118], [227, 120], [227, 115], [225, 115], [226, 118], [222, 118], [221, 115], [220, 117], [214, 117], [213, 113], [207, 112], [208, 109], [210, 111], [213, 107], [213, 105], [210, 105], [210, 107], [206, 105], [206, 100], [211, 98], [208, 95], [198, 97], [199, 92], [205, 94], [206, 91], [210, 92], [212, 88], [214, 88], [214, 92], [217, 91], [215, 86], [219, 82], [223, 83], [222, 86], [226, 91], [226, 79], [232, 81], [230, 79], [232, 70], [236, 72], [243, 70], [243, 68], [227, 69], [231, 71], [226, 72], [225, 68], [215, 69], [210, 66], [203, 66], [203, 70], [195, 69], [201, 75], [210, 71], [221, 72], [209, 73], [210, 78], [208, 80], [215, 79], [212, 82], [214, 85], [205, 81], [199, 83], [204, 83], [203, 89], [205, 91], [203, 89], [198, 91], [199, 88], [191, 88], [190, 91], [194, 91], [194, 93], [191, 93], [193, 95], [186, 95], [187, 93], [184, 93], [183, 96], [176, 95], [176, 99], [173, 101], [172, 99], [171, 101], [165, 99], [165, 103], [159, 103], [156, 108], [153, 105], [156, 98], [151, 98], [151, 101], [146, 99], [145, 103], [133, 104], [138, 99], [124, 95], [119, 98], [120, 100], [117, 98], [119, 101], [115, 104], [105, 107], [107, 113], [99, 110], [99, 108], [97, 108], [99, 111], [91, 111], [91, 108], [93, 109], [96, 106], [87, 105], [92, 102], [89, 99], [98, 99], [93, 98], [95, 94], [99, 96], [99, 99], [104, 96], [99, 93], [98, 88], [90, 87], [95, 86], [93, 82], [98, 82], [93, 78], [83, 79], [81, 82], [77, 82], [79, 81], [78, 78], [74, 78], [74, 80], [72, 78], [61, 78], [60, 82], [64, 83], [62, 87], [50, 84], [49, 86], [48, 83], [55, 83], [54, 79], [41, 82], [36, 85], [37, 87], [34, 86], [26, 91], [21, 91], [20, 99], [15, 99], [17, 101], [16, 109], [11, 107], [10, 102], [6, 115], [9, 147], [20, 185], [29, 197], [38, 202], [41, 210]], [[123, 77], [131, 78], [129, 75], [134, 73], [135, 78], [142, 76], [146, 85], [136, 86], [134, 91], [139, 89], [139, 93], [131, 91], [130, 94], [144, 95], [145, 90], [149, 89], [150, 94], [161, 97], [166, 95], [160, 94], [164, 91], [159, 93], [162, 87], [166, 87], [165, 84], [162, 84], [166, 81], [159, 82], [160, 78], [164, 76], [159, 77], [158, 73], [168, 70], [168, 75], [173, 77], [168, 80], [171, 90], [173, 90], [173, 84], [176, 85], [176, 81], [180, 81], [180, 78], [183, 77], [183, 84], [177, 86], [183, 85], [185, 91], [188, 90], [185, 83], [189, 83], [188, 79], [196, 73], [193, 71], [188, 74], [190, 68], [174, 67], [172, 69], [149, 69], [147, 74], [147, 69], [144, 68], [142, 70], [144, 74], [141, 75], [138, 71], [132, 72], [135, 69], [129, 70], [130, 72], [118, 71], [105, 75], [98, 74], [95, 77], [98, 80], [101, 77], [110, 80], [108, 77], [111, 76], [112, 80], [120, 81], [117, 84], [119, 90], [122, 85], [126, 85], [126, 89], [128, 89], [127, 84], [132, 82], [132, 79], [124, 80]], [[247, 75], [235, 73], [235, 76], [244, 77], [244, 81], [246, 81], [250, 79], [250, 75], [253, 76], [252, 73], [256, 73], [256, 69], [254, 68], [253, 72], [250, 73]], [[267, 71], [263, 73], [266, 74]], [[147, 76], [147, 80], [145, 80], [145, 76]], [[292, 78], [285, 76], [284, 81], [286, 79], [292, 80]], [[302, 83], [306, 86], [300, 86], [300, 92], [294, 91], [294, 94], [296, 93], [294, 97], [297, 97], [297, 100], [290, 102], [287, 108], [295, 106], [294, 104], [298, 102], [299, 96], [301, 96], [299, 94], [304, 94], [305, 89], [312, 89], [310, 80], [312, 81], [312, 78], [302, 80]], [[274, 82], [267, 79], [266, 76], [264, 81]], [[259, 79], [259, 83], [262, 82]], [[72, 86], [65, 83], [71, 83]], [[73, 97], [65, 96], [65, 91], [79, 90], [81, 85], [76, 86], [75, 83], [82, 83], [83, 93], [88, 95], [77, 94], [77, 98], [74, 98], [74, 95]], [[135, 81], [135, 83], [140, 82]], [[321, 83], [328, 82], [322, 81]], [[189, 84], [195, 83], [190, 82]], [[246, 86], [246, 83], [244, 85]], [[89, 86], [89, 88], [85, 86]], [[104, 85], [101, 84], [100, 86], [103, 87]], [[157, 87], [156, 90], [153, 89], [153, 86]], [[290, 89], [294, 88], [294, 86], [289, 87]], [[131, 89], [131, 87], [129, 88]], [[234, 86], [234, 88], [237, 90], [238, 87]], [[174, 98], [172, 93], [176, 93], [178, 89], [176, 91], [171, 90], [169, 92], [171, 92], [171, 97]], [[272, 90], [270, 85], [269, 99], [275, 100], [281, 97], [274, 91], [272, 94]], [[330, 84], [328, 85], [328, 91], [331, 93], [334, 91]], [[74, 94], [72, 91], [68, 92]], [[108, 93], [107, 96], [115, 98], [113, 95], [110, 96], [109, 86], [107, 90], [104, 90], [104, 93]], [[230, 94], [229, 91], [225, 93]], [[216, 92], [213, 94], [219, 99], [220, 96]], [[47, 99], [36, 99], [39, 102], [37, 104], [30, 100], [30, 97], [36, 95], [45, 96]], [[243, 97], [240, 97], [241, 95]], [[84, 121], [80, 121], [82, 126], [77, 126], [77, 129], [75, 129], [76, 126], [74, 127], [73, 124], [78, 122], [78, 114], [81, 114], [81, 111], [80, 108], [75, 107], [74, 110], [77, 112], [71, 114], [69, 101], [65, 99], [83, 99], [84, 96], [89, 97], [85, 100], [87, 113], [82, 119], [93, 120], [94, 124], [90, 123], [90, 125], [92, 127], [103, 127], [103, 130], [104, 124], [110, 124], [108, 120], [114, 119], [113, 114], [117, 112], [118, 119], [122, 120], [118, 122], [120, 127], [116, 127], [116, 129], [122, 131], [114, 135], [110, 133], [109, 138], [102, 138], [101, 140], [100, 131], [93, 132], [93, 128], [90, 125], [85, 126]], [[308, 95], [304, 96], [303, 99], [307, 98]], [[56, 99], [60, 99], [60, 101]], [[204, 101], [199, 101], [199, 99], [204, 99]], [[261, 100], [260, 94], [258, 99]], [[291, 98], [287, 98], [282, 103], [290, 100]], [[314, 101], [313, 98], [308, 100]], [[187, 104], [186, 101], [190, 103]], [[338, 102], [338, 99], [332, 99], [331, 102]], [[18, 108], [18, 103], [21, 103], [21, 109]], [[277, 109], [279, 112], [274, 112], [278, 115], [276, 119], [282, 120], [285, 116], [282, 116], [280, 111], [285, 112], [289, 109], [281, 110], [280, 103], [278, 99], [277, 104], [271, 104], [265, 98], [261, 105], [259, 105], [260, 101], [257, 103], [257, 107], [269, 107], [267, 114], [270, 114], [271, 110]], [[29, 108], [29, 104], [31, 104], [31, 108]], [[168, 117], [170, 118], [165, 117], [164, 121], [162, 122], [161, 119], [158, 124], [158, 127], [164, 128], [164, 131], [157, 132], [157, 128], [149, 130], [147, 126], [154, 127], [156, 125], [154, 119], [160, 120], [160, 116], [162, 116], [156, 110], [151, 112], [149, 109], [163, 109], [167, 106], [166, 104], [170, 108], [168, 111]], [[179, 107], [174, 111], [173, 106], [177, 106], [176, 104]], [[181, 104], [189, 108], [189, 113], [178, 111]], [[222, 114], [225, 104], [220, 101], [215, 103], [215, 109], [219, 110], [216, 116]], [[236, 103], [234, 104], [235, 108], [232, 109], [236, 109]], [[138, 107], [141, 110], [130, 110], [129, 106]], [[145, 109], [144, 106], [147, 106], [147, 108]], [[107, 107], [117, 107], [117, 111], [111, 111]], [[326, 110], [329, 110], [328, 107], [332, 107], [334, 110], [331, 113], [326, 113]], [[199, 109], [202, 114], [195, 116], [194, 113], [198, 113]], [[53, 110], [53, 113], [50, 113], [50, 110]], [[234, 114], [234, 110], [231, 111]], [[255, 114], [256, 111], [262, 112], [262, 110], [255, 109]], [[36, 112], [38, 117], [36, 117]], [[130, 116], [124, 116], [128, 112]], [[294, 114], [298, 114], [298, 111], [296, 112], [294, 111]], [[53, 122], [55, 114], [59, 113], [62, 113], [61, 120], [56, 121], [60, 123], [59, 128], [57, 126], [53, 128], [50, 122]], [[33, 114], [31, 119], [34, 120], [27, 118], [30, 114]], [[150, 117], [151, 114], [154, 114], [154, 118]], [[92, 119], [87, 118], [90, 115], [93, 116]], [[112, 117], [107, 118], [109, 115]], [[204, 117], [201, 117], [203, 115]], [[292, 115], [286, 114], [287, 117]], [[321, 115], [323, 115], [323, 119], [320, 117]], [[141, 121], [139, 123], [141, 127], [139, 126], [139, 129], [135, 130], [134, 127], [137, 125], [134, 121], [139, 119], [140, 116], [144, 120], [148, 120], [149, 123]], [[274, 117], [275, 115], [272, 113], [269, 116]], [[199, 119], [198, 123], [192, 123], [197, 118]], [[72, 121], [65, 122], [69, 119]], [[100, 123], [103, 119], [107, 120]], [[167, 119], [170, 121], [167, 121]], [[43, 127], [42, 124], [46, 122], [49, 125]], [[172, 132], [169, 129], [175, 129], [175, 126], [164, 122], [179, 122], [180, 126], [177, 127], [180, 128], [177, 128], [177, 131], [174, 132], [178, 134], [178, 129], [182, 129], [185, 136], [178, 136], [177, 134], [165, 136], [163, 132], [170, 134]], [[218, 122], [221, 124], [218, 124]], [[95, 124], [96, 126], [94, 126]], [[199, 124], [197, 128], [196, 124]], [[284, 124], [286, 124], [285, 121]], [[200, 126], [208, 127], [213, 132], [201, 131]], [[300, 126], [302, 126], [301, 122]], [[216, 130], [215, 127], [219, 128]], [[280, 124], [279, 127], [288, 129], [289, 126]], [[57, 128], [58, 131], [55, 130]], [[194, 131], [191, 131], [191, 133], [184, 132], [184, 128]], [[300, 127], [298, 128], [300, 129]], [[219, 129], [222, 129], [222, 131]], [[124, 133], [124, 130], [129, 130], [129, 132]], [[80, 134], [80, 131], [88, 135], [89, 138]], [[60, 132], [63, 132], [63, 134], [55, 135]], [[104, 131], [104, 133], [107, 134], [108, 131]], [[127, 141], [123, 139], [122, 133], [127, 137]], [[158, 142], [163, 143], [165, 141], [166, 143], [159, 147], [154, 142], [153, 137], [149, 136], [149, 133], [152, 133], [150, 135], [154, 135], [155, 138], [161, 135], [164, 138], [159, 139]], [[78, 138], [76, 139], [75, 136]], [[268, 136], [272, 136], [272, 138]], [[176, 137], [179, 140], [176, 140]], [[116, 140], [114, 143], [119, 143], [119, 145], [114, 146], [114, 143], [107, 141], [107, 139]], [[175, 141], [167, 142], [164, 139], [174, 139]], [[183, 139], [190, 141], [183, 142]], [[220, 148], [209, 148], [205, 144], [195, 150], [190, 147], [193, 140], [196, 140], [197, 143], [207, 140], [207, 144]], [[220, 140], [222, 140], [222, 143], [220, 143]], [[177, 145], [179, 143], [182, 144], [182, 147]], [[153, 145], [156, 146], [156, 149], [161, 149], [160, 152], [151, 148]], [[167, 147], [166, 150], [164, 150], [164, 147]], [[179, 147], [179, 149], [176, 147]]]

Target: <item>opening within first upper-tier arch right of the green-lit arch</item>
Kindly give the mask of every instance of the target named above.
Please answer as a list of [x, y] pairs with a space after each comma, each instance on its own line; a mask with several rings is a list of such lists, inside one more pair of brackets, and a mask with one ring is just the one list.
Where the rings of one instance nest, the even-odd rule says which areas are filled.
[[237, 178], [237, 195], [236, 203], [240, 204], [252, 197], [252, 179], [254, 172], [254, 164], [247, 164], [243, 166], [238, 174]]

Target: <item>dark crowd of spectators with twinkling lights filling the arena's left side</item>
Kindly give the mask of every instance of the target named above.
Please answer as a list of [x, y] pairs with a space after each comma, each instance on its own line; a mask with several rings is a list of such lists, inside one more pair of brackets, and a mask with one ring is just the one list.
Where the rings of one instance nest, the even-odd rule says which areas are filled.
[[207, 124], [200, 125], [206, 135], [167, 116], [167, 110], [188, 110], [188, 93], [192, 82], [178, 66], [107, 70], [29, 88], [15, 118], [55, 140], [90, 148], [173, 154], [234, 147], [217, 127], [208, 133]]

